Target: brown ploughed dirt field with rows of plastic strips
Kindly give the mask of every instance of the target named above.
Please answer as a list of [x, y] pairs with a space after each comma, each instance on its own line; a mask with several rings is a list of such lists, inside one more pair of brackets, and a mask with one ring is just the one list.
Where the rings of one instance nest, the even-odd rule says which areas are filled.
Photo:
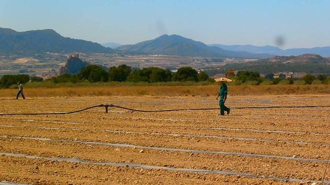
[[[97, 104], [143, 110], [214, 108], [214, 96], [0, 98], [0, 113], [66, 112]], [[0, 116], [0, 181], [22, 184], [320, 183], [330, 151], [330, 95], [229, 96], [218, 110], [89, 109]], [[330, 181], [330, 169], [325, 174]]]

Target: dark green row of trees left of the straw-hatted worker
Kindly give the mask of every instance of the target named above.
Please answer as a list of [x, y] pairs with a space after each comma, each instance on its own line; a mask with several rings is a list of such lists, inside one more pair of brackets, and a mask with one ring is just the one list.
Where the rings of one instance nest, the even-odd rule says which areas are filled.
[[48, 81], [52, 83], [77, 83], [77, 82], [170, 82], [170, 81], [209, 81], [214, 82], [209, 78], [204, 71], [198, 72], [191, 67], [181, 67], [176, 72], [165, 70], [158, 67], [147, 67], [143, 69], [132, 69], [125, 64], [117, 67], [110, 67], [108, 71], [98, 65], [88, 65], [80, 69], [76, 75], [63, 74], [50, 79], [43, 80], [40, 77], [29, 77], [26, 74], [20, 75], [4, 75], [0, 79], [0, 87], [8, 88], [10, 85], [26, 83], [29, 80], [32, 82]]

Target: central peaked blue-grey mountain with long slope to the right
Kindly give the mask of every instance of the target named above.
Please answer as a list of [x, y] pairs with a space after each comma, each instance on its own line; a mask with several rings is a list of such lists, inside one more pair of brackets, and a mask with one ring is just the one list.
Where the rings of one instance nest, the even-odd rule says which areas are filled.
[[179, 35], [161, 35], [152, 40], [142, 41], [132, 45], [122, 45], [118, 50], [143, 52], [150, 54], [177, 55], [177, 56], [201, 56], [201, 57], [235, 57], [235, 58], [267, 58], [274, 55], [253, 54], [245, 51], [228, 51], [215, 46]]

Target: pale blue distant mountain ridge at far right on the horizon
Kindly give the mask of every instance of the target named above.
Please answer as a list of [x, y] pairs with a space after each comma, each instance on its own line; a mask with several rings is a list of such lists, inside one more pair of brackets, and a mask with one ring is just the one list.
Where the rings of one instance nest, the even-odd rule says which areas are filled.
[[318, 54], [322, 57], [330, 57], [330, 46], [313, 47], [313, 48], [292, 48], [280, 49], [275, 46], [254, 46], [254, 45], [223, 45], [223, 44], [209, 44], [208, 46], [216, 46], [230, 51], [246, 51], [250, 53], [268, 53], [278, 56], [301, 55], [306, 53]]

